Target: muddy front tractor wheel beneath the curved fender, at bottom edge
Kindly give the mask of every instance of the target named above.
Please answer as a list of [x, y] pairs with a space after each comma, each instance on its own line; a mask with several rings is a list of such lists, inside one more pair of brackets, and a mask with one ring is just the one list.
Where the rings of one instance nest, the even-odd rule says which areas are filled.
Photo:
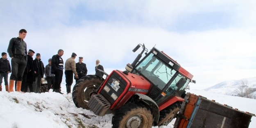
[[128, 103], [112, 117], [112, 128], [152, 128], [153, 115], [142, 103]]

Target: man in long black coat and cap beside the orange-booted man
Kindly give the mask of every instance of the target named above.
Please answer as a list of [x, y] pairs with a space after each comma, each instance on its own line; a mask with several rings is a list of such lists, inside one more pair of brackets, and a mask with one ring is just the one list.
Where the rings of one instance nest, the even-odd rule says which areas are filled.
[[33, 56], [34, 51], [29, 49], [27, 52], [27, 66], [23, 74], [23, 82], [21, 84], [21, 91], [27, 92], [27, 87], [29, 88], [29, 92], [34, 92], [33, 90], [33, 82], [36, 81], [35, 73], [34, 73], [34, 63], [33, 63]]

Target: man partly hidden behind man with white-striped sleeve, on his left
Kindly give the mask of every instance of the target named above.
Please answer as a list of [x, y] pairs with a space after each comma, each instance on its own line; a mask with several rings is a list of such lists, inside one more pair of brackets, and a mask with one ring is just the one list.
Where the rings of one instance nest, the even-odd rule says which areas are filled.
[[55, 75], [52, 74], [52, 58], [49, 58], [48, 65], [45, 66], [45, 78], [47, 80], [48, 91], [52, 88], [52, 85], [55, 82]]

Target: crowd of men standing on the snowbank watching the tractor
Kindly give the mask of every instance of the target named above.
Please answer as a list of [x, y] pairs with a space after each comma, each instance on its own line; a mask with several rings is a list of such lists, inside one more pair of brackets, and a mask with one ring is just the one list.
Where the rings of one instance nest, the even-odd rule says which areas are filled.
[[[7, 53], [2, 52], [0, 58], [0, 91], [2, 91], [2, 79], [5, 82], [5, 90], [7, 92], [35, 92], [41, 93], [41, 79], [45, 76], [48, 84], [48, 90], [51, 88], [53, 92], [63, 94], [61, 92], [61, 81], [63, 70], [65, 70], [66, 77], [66, 92], [71, 93], [71, 85], [73, 79], [77, 82], [83, 76], [87, 75], [86, 64], [83, 63], [83, 57], [79, 57], [79, 62], [75, 62], [77, 54], [72, 53], [65, 63], [61, 56], [63, 56], [63, 49], [59, 49], [58, 54], [49, 58], [48, 64], [44, 66], [41, 61], [41, 54], [36, 53], [36, 58], [33, 60], [35, 52], [32, 49], [27, 50], [27, 43], [24, 41], [27, 35], [25, 29], [19, 31], [19, 36], [11, 38], [7, 52], [11, 58], [11, 64], [7, 59]], [[103, 77], [104, 71], [100, 60], [96, 60], [95, 75]], [[9, 84], [8, 74], [11, 73]]]

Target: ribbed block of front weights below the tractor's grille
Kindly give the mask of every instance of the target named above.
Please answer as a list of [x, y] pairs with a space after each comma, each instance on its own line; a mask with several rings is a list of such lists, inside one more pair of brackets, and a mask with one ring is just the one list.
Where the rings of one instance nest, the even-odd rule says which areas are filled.
[[98, 116], [104, 116], [111, 104], [101, 94], [95, 94], [88, 101], [88, 107]]

